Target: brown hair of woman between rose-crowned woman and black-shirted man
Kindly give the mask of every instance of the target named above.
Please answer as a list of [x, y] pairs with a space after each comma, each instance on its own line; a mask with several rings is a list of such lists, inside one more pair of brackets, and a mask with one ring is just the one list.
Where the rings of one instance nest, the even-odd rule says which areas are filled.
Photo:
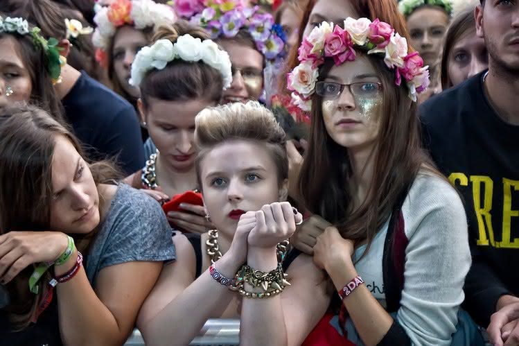
[[441, 89], [443, 90], [452, 87], [452, 81], [449, 78], [449, 56], [452, 48], [457, 44], [459, 38], [470, 30], [476, 31], [476, 19], [474, 18], [474, 9], [472, 7], [459, 12], [450, 21], [450, 26], [445, 34], [440, 71]]

